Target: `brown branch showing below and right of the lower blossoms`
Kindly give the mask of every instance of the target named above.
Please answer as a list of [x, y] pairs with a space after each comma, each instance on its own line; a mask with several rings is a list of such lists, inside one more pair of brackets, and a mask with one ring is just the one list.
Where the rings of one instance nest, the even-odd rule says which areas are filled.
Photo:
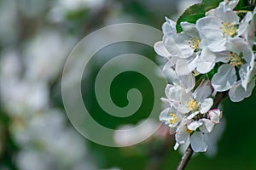
[[[214, 99], [213, 99], [213, 105], [211, 109], [217, 109], [218, 105], [228, 96], [228, 91], [225, 92], [218, 92]], [[181, 161], [177, 165], [177, 170], [183, 170], [187, 166], [187, 164], [190, 161], [191, 156], [193, 155], [194, 151], [192, 150], [190, 144], [188, 149], [185, 151]]]

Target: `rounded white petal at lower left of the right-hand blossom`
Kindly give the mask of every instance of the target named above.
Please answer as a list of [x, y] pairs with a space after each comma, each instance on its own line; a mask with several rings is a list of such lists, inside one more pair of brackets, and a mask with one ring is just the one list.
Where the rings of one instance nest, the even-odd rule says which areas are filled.
[[229, 64], [221, 65], [212, 77], [212, 87], [218, 92], [230, 89], [236, 83], [235, 68]]

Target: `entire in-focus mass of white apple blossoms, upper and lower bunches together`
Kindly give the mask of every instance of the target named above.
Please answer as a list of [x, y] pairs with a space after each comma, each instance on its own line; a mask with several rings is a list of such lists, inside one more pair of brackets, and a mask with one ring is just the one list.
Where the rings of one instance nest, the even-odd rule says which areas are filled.
[[189, 141], [195, 152], [207, 150], [204, 136], [222, 115], [212, 109], [212, 94], [229, 92], [230, 99], [239, 102], [253, 92], [256, 9], [238, 14], [237, 3], [219, 3], [195, 24], [181, 22], [181, 32], [166, 18], [163, 40], [154, 44], [167, 60], [163, 70], [175, 71], [177, 79], [167, 85], [163, 100], [168, 108], [160, 113], [160, 121], [176, 133], [175, 149]]

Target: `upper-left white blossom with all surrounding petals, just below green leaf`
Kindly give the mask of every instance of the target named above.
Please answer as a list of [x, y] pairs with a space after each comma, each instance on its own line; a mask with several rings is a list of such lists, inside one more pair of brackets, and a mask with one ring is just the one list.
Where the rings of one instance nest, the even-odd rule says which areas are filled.
[[192, 71], [201, 74], [211, 71], [215, 62], [209, 60], [208, 56], [212, 51], [201, 43], [200, 33], [195, 24], [182, 22], [181, 33], [177, 33], [173, 25], [172, 20], [166, 19], [166, 23], [162, 26], [163, 41], [154, 44], [156, 53], [167, 59], [163, 70], [173, 67], [178, 76], [188, 75]]

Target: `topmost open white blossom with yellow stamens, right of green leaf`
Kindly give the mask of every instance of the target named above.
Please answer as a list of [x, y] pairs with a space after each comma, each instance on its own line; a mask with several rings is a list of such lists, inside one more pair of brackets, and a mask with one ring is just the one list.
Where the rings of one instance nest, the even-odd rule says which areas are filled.
[[238, 35], [238, 25], [237, 14], [232, 10], [225, 10], [223, 4], [196, 22], [201, 44], [213, 52], [226, 50], [225, 43]]

